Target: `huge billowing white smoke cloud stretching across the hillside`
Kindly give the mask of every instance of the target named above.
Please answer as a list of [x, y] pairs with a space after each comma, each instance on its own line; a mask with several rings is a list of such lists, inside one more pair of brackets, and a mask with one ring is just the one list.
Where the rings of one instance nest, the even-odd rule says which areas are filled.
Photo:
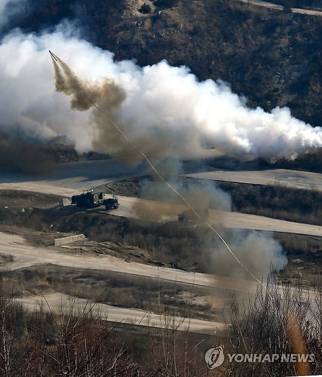
[[38, 36], [15, 31], [2, 40], [0, 127], [21, 127], [38, 137], [67, 135], [78, 151], [92, 149], [91, 112], [71, 111], [69, 98], [55, 92], [49, 49], [82, 79], [119, 83], [126, 100], [118, 121], [137, 143], [153, 135], [142, 148], [155, 151], [162, 144], [162, 158], [193, 156], [205, 140], [238, 158], [252, 154], [270, 161], [322, 147], [321, 128], [292, 117], [288, 108], [250, 109], [226, 83], [199, 82], [188, 68], [166, 61], [143, 68], [131, 60], [115, 62], [112, 52], [79, 39], [66, 25]]

